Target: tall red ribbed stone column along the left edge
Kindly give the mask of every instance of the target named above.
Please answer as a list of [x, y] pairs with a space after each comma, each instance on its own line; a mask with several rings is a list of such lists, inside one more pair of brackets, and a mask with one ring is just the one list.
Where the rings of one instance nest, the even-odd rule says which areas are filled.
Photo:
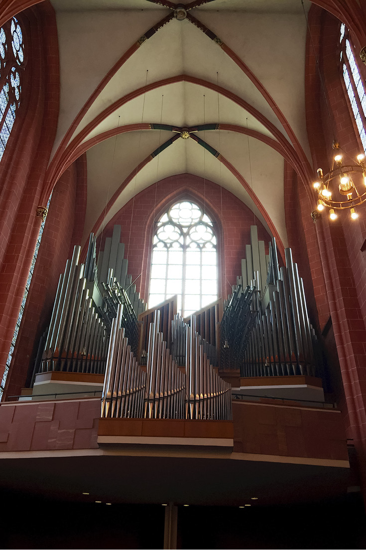
[[41, 226], [36, 209], [57, 128], [56, 19], [48, 3], [34, 10], [19, 15], [29, 61], [19, 116], [0, 163], [0, 377]]

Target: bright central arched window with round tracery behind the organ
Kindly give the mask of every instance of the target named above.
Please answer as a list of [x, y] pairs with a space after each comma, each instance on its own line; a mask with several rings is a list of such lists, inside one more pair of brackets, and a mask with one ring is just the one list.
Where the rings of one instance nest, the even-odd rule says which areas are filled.
[[213, 222], [193, 202], [177, 202], [154, 232], [149, 307], [178, 294], [178, 311], [191, 315], [217, 300], [217, 273]]

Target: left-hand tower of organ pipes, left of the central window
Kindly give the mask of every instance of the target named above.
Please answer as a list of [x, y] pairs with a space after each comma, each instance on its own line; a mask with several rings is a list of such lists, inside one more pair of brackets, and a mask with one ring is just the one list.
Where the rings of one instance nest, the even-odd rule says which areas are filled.
[[[123, 305], [121, 325], [135, 355], [138, 348], [137, 312], [146, 305], [126, 274], [120, 226], [96, 262], [96, 237], [90, 235], [85, 264], [80, 246], [60, 275], [51, 323], [38, 348], [33, 379], [38, 372], [65, 371], [104, 374], [113, 318]], [[98, 266], [100, 279], [98, 281]], [[115, 270], [115, 271], [114, 271]], [[114, 274], [117, 274], [117, 278]], [[127, 286], [126, 286], [127, 285]]]

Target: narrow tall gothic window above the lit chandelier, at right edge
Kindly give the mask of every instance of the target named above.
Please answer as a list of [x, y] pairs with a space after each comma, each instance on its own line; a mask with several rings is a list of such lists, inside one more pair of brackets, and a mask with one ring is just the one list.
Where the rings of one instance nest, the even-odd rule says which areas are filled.
[[343, 64], [342, 73], [345, 81], [348, 97], [350, 98], [351, 108], [354, 120], [357, 125], [358, 133], [362, 141], [362, 146], [366, 152], [366, 95], [362, 78], [359, 74], [356, 59], [354, 59], [353, 48], [345, 24], [341, 24], [340, 30], [341, 43], [341, 63]]

